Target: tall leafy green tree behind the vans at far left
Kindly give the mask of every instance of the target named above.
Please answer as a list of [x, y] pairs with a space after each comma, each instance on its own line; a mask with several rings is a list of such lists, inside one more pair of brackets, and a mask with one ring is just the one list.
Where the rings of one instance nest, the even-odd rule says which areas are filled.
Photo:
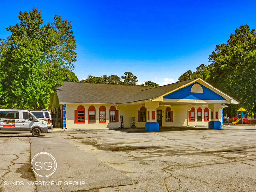
[[70, 22], [55, 16], [43, 25], [40, 11], [20, 12], [20, 23], [9, 26], [11, 35], [1, 40], [0, 83], [9, 108], [46, 108], [61, 67], [73, 69], [75, 40]]

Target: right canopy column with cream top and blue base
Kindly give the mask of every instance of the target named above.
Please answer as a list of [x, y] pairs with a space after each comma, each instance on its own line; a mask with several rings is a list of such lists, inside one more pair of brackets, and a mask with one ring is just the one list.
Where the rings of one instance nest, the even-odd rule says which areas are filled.
[[208, 124], [209, 129], [221, 129], [221, 104], [209, 104], [211, 119]]

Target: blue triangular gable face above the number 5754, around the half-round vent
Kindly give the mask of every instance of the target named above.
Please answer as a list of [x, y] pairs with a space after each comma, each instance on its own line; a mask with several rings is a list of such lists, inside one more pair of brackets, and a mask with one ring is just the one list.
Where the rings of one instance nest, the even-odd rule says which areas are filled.
[[[198, 83], [198, 82], [196, 82], [196, 83]], [[164, 99], [226, 100], [219, 94], [215, 93], [214, 91], [212, 91], [209, 88], [206, 88], [205, 86], [201, 85], [200, 83], [198, 83], [198, 84], [202, 86], [203, 93], [191, 93], [190, 92], [191, 87], [196, 83], [193, 83], [193, 84], [188, 85], [184, 88], [181, 88], [173, 93], [165, 95], [163, 98]]]

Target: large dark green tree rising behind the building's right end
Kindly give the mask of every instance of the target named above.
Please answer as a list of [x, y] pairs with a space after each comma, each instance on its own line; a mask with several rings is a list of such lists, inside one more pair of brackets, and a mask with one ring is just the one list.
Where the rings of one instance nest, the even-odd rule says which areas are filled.
[[[227, 44], [217, 45], [209, 55], [212, 61], [209, 81], [240, 99], [240, 105], [251, 106], [256, 118], [256, 33], [241, 25], [230, 35]], [[247, 108], [250, 111], [250, 108]]]

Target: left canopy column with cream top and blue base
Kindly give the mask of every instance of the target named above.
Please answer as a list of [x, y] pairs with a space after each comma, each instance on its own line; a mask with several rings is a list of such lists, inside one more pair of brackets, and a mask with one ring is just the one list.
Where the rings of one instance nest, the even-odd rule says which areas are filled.
[[147, 122], [145, 123], [145, 131], [159, 131], [159, 124], [156, 122], [156, 109], [159, 107], [159, 102], [145, 102], [147, 110]]

